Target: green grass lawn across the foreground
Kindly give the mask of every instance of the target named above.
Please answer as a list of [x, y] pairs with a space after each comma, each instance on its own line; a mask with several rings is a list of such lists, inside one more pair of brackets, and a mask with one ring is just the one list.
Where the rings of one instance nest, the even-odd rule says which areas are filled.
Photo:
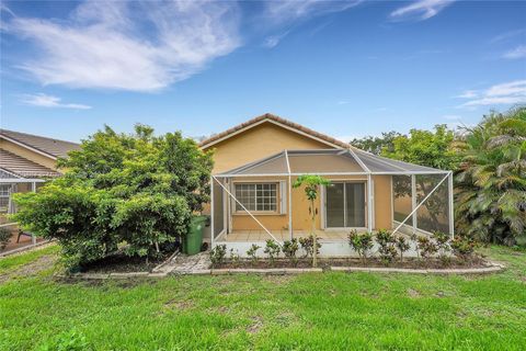
[[526, 252], [483, 252], [508, 270], [90, 284], [54, 281], [50, 247], [0, 260], [0, 349], [524, 350]]

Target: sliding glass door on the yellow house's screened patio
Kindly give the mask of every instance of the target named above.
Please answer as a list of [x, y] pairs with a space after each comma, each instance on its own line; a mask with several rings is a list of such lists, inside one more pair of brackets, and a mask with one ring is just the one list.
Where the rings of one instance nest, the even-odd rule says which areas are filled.
[[328, 228], [365, 227], [365, 182], [338, 182], [325, 190]]

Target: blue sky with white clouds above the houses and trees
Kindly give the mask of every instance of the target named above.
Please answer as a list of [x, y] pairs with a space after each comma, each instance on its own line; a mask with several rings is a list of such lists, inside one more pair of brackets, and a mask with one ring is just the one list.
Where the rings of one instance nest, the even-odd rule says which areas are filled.
[[271, 112], [348, 141], [526, 103], [523, 1], [2, 1], [1, 126], [187, 136]]

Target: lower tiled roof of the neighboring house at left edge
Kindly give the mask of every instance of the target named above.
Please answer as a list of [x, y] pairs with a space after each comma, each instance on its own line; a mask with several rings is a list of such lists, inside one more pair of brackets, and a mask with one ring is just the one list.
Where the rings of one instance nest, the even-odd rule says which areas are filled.
[[53, 169], [3, 149], [0, 149], [0, 169], [4, 172], [16, 176], [13, 178], [42, 178], [60, 176], [59, 172], [54, 171]]

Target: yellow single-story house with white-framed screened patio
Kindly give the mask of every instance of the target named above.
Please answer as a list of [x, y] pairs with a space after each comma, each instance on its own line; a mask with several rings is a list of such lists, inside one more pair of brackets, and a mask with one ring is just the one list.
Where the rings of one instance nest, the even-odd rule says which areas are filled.
[[316, 202], [321, 256], [347, 256], [351, 229], [454, 235], [453, 174], [387, 159], [273, 114], [201, 143], [214, 149], [209, 240], [244, 254], [252, 244], [308, 236], [300, 174], [331, 181]]

